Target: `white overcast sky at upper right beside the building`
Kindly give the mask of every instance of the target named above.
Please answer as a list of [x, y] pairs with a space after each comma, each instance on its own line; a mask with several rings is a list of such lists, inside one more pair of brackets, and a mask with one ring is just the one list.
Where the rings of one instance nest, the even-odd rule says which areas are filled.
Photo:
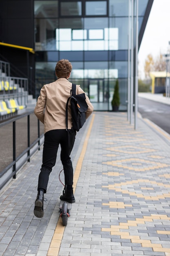
[[[139, 72], [144, 74], [148, 54], [166, 54], [170, 41], [170, 0], [154, 0], [138, 54]], [[143, 77], [142, 77], [143, 78]]]

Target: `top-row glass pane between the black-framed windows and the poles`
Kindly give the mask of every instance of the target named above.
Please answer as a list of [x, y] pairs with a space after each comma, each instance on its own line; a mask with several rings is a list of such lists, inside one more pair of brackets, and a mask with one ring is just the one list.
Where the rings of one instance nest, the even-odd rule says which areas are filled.
[[109, 16], [128, 16], [128, 0], [109, 0]]

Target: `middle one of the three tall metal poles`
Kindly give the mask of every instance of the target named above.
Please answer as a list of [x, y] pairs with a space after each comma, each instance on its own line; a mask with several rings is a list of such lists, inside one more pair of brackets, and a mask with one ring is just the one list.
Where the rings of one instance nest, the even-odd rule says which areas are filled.
[[132, 24], [131, 24], [131, 80], [130, 80], [130, 124], [133, 121], [133, 5], [134, 0], [132, 0]]

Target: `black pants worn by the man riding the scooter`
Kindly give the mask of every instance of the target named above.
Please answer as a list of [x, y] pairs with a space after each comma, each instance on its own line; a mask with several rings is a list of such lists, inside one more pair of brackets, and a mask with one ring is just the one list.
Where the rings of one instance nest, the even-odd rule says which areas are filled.
[[[68, 146], [68, 132], [70, 136], [70, 147]], [[64, 168], [64, 177], [66, 185], [73, 185], [73, 166], [70, 158], [73, 149], [76, 132], [69, 130], [51, 130], [44, 135], [44, 148], [42, 154], [42, 167], [38, 179], [38, 189], [44, 189], [46, 193], [49, 175], [55, 166], [57, 150], [61, 145], [60, 159]]]

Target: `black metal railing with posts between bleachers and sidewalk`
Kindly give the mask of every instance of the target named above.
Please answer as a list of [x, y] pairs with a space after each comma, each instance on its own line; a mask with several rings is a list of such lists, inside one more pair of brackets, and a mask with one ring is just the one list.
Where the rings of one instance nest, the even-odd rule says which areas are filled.
[[[41, 139], [44, 136], [44, 134], [40, 135], [40, 121], [38, 120], [38, 138], [33, 141], [33, 143], [30, 145], [30, 115], [34, 111], [31, 110], [29, 112], [26, 112], [25, 114], [14, 117], [8, 121], [4, 121], [3, 123], [0, 124], [0, 128], [2, 126], [6, 126], [8, 124], [13, 123], [13, 161], [5, 167], [1, 172], [0, 172], [0, 179], [3, 177], [4, 174], [6, 174], [11, 168], [12, 168], [12, 173], [9, 173], [6, 177], [6, 179], [3, 182], [0, 182], [0, 189], [3, 188], [5, 184], [13, 177], [14, 179], [16, 178], [16, 173], [17, 171], [23, 166], [23, 164], [27, 161], [30, 162], [31, 156], [37, 151], [40, 150], [40, 146], [43, 143], [41, 143]], [[16, 121], [19, 119], [22, 119], [24, 117], [27, 117], [27, 148], [18, 156], [16, 157]], [[36, 146], [37, 145], [37, 146]], [[31, 151], [31, 149], [34, 147], [34, 149]], [[27, 157], [24, 157], [24, 160], [17, 165], [16, 163], [24, 156], [27, 154]]]

